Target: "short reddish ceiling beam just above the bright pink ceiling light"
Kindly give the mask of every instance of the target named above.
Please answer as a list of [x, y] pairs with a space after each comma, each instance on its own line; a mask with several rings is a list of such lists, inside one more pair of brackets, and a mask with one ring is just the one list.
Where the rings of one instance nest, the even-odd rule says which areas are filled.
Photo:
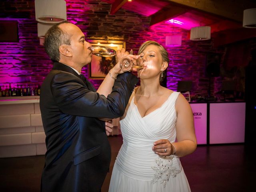
[[169, 20], [169, 19], [179, 16], [181, 14], [184, 14], [185, 12], [188, 12], [188, 10], [190, 10], [190, 9], [183, 8], [181, 6], [174, 6], [174, 5], [165, 7], [150, 16], [151, 20], [150, 20], [149, 26], [152, 26], [159, 22], [164, 22], [166, 20]]

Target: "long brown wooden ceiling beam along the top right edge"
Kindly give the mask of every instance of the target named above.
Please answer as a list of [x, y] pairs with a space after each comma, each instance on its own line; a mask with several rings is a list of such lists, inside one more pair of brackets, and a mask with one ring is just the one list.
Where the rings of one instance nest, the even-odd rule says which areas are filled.
[[249, 8], [255, 8], [256, 2], [248, 0], [168, 0], [169, 2], [177, 3], [183, 6], [188, 6], [200, 10], [202, 12], [208, 12], [230, 20], [242, 22], [243, 10]]

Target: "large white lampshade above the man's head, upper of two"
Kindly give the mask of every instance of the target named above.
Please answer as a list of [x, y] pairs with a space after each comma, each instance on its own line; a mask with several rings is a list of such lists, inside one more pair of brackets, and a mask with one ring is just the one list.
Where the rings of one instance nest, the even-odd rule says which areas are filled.
[[67, 20], [66, 1], [35, 0], [36, 20], [43, 23], [59, 23]]

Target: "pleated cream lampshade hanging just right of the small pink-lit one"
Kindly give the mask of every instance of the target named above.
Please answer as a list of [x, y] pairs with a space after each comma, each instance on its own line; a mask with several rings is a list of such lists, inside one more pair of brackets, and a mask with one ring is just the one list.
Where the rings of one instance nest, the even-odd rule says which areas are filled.
[[210, 38], [211, 38], [210, 26], [192, 27], [190, 30], [190, 40], [192, 41], [208, 40]]

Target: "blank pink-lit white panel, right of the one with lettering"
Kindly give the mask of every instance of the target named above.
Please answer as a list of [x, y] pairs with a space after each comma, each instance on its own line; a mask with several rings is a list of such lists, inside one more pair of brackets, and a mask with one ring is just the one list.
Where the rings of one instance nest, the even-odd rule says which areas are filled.
[[210, 144], [243, 143], [245, 102], [210, 103]]

